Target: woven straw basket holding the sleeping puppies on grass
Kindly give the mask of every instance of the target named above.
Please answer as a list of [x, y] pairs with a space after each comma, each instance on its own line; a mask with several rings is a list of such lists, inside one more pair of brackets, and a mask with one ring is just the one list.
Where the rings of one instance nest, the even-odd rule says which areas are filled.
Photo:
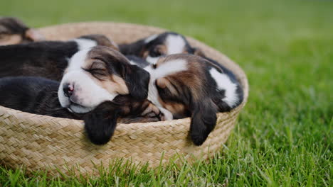
[[[49, 40], [67, 40], [80, 35], [100, 33], [117, 43], [133, 42], [163, 29], [129, 23], [69, 23], [40, 29]], [[96, 167], [108, 167], [114, 159], [130, 159], [134, 164], [155, 167], [175, 154], [185, 159], [207, 159], [226, 142], [240, 109], [248, 98], [248, 81], [237, 64], [202, 42], [188, 38], [208, 57], [218, 60], [236, 73], [244, 89], [244, 101], [230, 113], [218, 113], [216, 128], [200, 147], [188, 137], [190, 118], [155, 123], [118, 124], [112, 140], [97, 146], [89, 142], [82, 120], [53, 118], [23, 113], [0, 106], [0, 162], [10, 167], [24, 166], [26, 171], [47, 170], [68, 173], [75, 168], [81, 174], [97, 174]], [[163, 157], [162, 157], [163, 155]], [[162, 159], [162, 160], [161, 160]], [[58, 170], [58, 171], [57, 171]]]

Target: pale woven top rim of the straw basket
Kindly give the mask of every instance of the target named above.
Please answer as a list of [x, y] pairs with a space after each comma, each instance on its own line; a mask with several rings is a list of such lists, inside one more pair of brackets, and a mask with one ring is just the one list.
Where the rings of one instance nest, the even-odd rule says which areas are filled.
[[[150, 29], [150, 30], [156, 30], [157, 33], [162, 33], [164, 31], [166, 31], [166, 29], [164, 28], [157, 28], [155, 26], [145, 26], [145, 25], [141, 25], [141, 24], [137, 24], [137, 23], [123, 23], [123, 22], [107, 22], [107, 21], [92, 21], [92, 22], [78, 22], [78, 23], [63, 23], [63, 24], [57, 24], [57, 25], [53, 25], [53, 26], [46, 26], [46, 27], [41, 27], [38, 28], [38, 30], [43, 30], [43, 29], [53, 29], [53, 28], [61, 28], [61, 27], [66, 27], [66, 26], [80, 26], [80, 25], [89, 25], [89, 26], [94, 26], [94, 25], [99, 25], [99, 24], [106, 24], [106, 25], [110, 25], [113, 24], [115, 26], [119, 25], [119, 26], [131, 26], [131, 27], [138, 27], [138, 28], [144, 28], [144, 29]], [[221, 57], [223, 57], [223, 60], [226, 61], [226, 64], [229, 64], [231, 66], [233, 66], [233, 69], [237, 69], [237, 73], [234, 72], [234, 74], [236, 75], [236, 77], [238, 78], [238, 80], [240, 81], [242, 87], [243, 87], [243, 92], [244, 92], [244, 96], [243, 96], [243, 101], [242, 103], [240, 103], [240, 105], [236, 108], [233, 108], [232, 111], [230, 112], [225, 112], [225, 113], [234, 113], [239, 111], [241, 108], [243, 108], [243, 106], [245, 106], [245, 103], [248, 101], [248, 79], [246, 77], [245, 72], [243, 71], [243, 69], [240, 68], [240, 66], [238, 64], [236, 64], [236, 62], [233, 62], [229, 57], [227, 57], [226, 55], [224, 55], [222, 52], [216, 50], [213, 47], [210, 47], [208, 45], [206, 45], [205, 43], [201, 42], [200, 40], [196, 40], [194, 38], [191, 38], [187, 35], [185, 35], [186, 39], [189, 40], [189, 42], [196, 42], [199, 45], [202, 45], [203, 47], [206, 47], [206, 50], [211, 50], [213, 52], [218, 53]], [[221, 63], [220, 60], [217, 60], [218, 62]], [[78, 125], [81, 127], [83, 127], [84, 122], [83, 120], [75, 120], [75, 119], [69, 119], [69, 118], [57, 118], [57, 117], [52, 117], [52, 116], [48, 116], [48, 115], [39, 115], [39, 114], [34, 114], [34, 113], [26, 113], [23, 111], [18, 111], [12, 108], [6, 108], [4, 106], [0, 106], [0, 115], [3, 115], [4, 113], [11, 113], [14, 114], [16, 113], [16, 115], [24, 115], [25, 118], [28, 116], [28, 118], [42, 118], [43, 121], [46, 122], [55, 122], [55, 121], [60, 121], [60, 120], [65, 120], [66, 122], [70, 123], [70, 125]], [[222, 115], [225, 113], [217, 113], [217, 115]], [[174, 123], [185, 123], [186, 121], [190, 121], [190, 117], [189, 118], [182, 118], [182, 119], [177, 119], [177, 120], [166, 120], [166, 121], [157, 121], [157, 122], [149, 122], [149, 123], [117, 123], [117, 128], [115, 131], [117, 130], [122, 130], [122, 129], [127, 129], [128, 126], [131, 126], [131, 128], [144, 128], [144, 126], [159, 126], [159, 125], [167, 125], [167, 124], [174, 124]], [[172, 122], [172, 123], [170, 123]], [[62, 126], [67, 126], [68, 123], [58, 123], [57, 125], [62, 125]]]

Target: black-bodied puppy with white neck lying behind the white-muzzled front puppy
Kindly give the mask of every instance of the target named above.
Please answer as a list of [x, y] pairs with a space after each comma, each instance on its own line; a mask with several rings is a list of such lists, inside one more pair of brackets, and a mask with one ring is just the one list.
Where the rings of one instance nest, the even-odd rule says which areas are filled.
[[36, 76], [60, 81], [68, 59], [75, 52], [96, 45], [117, 49], [104, 35], [0, 46], [0, 77]]

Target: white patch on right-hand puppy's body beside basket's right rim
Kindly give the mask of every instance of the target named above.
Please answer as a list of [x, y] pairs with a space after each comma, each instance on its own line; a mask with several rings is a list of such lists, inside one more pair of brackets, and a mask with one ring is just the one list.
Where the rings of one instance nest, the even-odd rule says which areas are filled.
[[221, 74], [215, 68], [209, 70], [209, 73], [216, 81], [218, 90], [225, 90], [225, 98], [222, 98], [222, 101], [226, 102], [230, 107], [235, 106], [238, 101], [237, 85], [231, 81], [228, 75]]

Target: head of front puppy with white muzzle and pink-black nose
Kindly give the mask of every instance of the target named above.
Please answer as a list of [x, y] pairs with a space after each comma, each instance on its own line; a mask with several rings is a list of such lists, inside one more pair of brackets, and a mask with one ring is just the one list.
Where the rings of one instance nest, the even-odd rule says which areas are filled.
[[117, 95], [147, 98], [149, 73], [129, 64], [110, 47], [80, 50], [70, 58], [58, 89], [61, 106], [74, 113], [87, 113]]

